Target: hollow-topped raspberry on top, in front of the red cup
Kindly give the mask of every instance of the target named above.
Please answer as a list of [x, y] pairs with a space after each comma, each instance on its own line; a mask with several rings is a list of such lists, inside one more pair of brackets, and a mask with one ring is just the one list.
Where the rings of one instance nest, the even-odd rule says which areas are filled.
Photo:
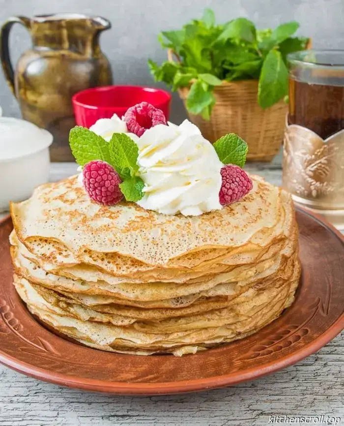
[[139, 137], [157, 124], [166, 124], [164, 113], [147, 102], [129, 108], [124, 114], [124, 121], [127, 123], [128, 131]]

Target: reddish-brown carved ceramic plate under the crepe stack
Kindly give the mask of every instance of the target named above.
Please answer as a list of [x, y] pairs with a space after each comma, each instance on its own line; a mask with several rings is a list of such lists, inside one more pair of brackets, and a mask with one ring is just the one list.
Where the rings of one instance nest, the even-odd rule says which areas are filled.
[[97, 351], [40, 325], [12, 285], [6, 218], [0, 223], [0, 362], [37, 379], [119, 395], [220, 388], [292, 365], [344, 329], [344, 238], [304, 210], [297, 222], [303, 272], [294, 304], [255, 335], [175, 358]]

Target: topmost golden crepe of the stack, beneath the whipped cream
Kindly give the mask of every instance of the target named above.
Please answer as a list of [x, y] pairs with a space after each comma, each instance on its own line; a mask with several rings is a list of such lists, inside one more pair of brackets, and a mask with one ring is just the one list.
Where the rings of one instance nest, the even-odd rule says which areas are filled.
[[55, 265], [88, 260], [126, 275], [149, 267], [178, 268], [180, 257], [186, 262], [187, 256], [203, 252], [207, 258], [208, 250], [229, 253], [244, 245], [244, 250], [249, 244], [268, 245], [288, 232], [291, 213], [287, 193], [259, 178], [240, 202], [201, 216], [164, 215], [128, 202], [100, 206], [89, 200], [76, 177], [42, 185], [29, 200], [11, 205], [18, 238], [34, 254]]

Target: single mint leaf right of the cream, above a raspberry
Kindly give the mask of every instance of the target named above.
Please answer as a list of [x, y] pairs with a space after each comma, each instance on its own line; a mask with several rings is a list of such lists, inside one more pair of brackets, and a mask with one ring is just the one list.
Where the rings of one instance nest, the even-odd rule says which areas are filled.
[[220, 161], [224, 164], [235, 164], [243, 167], [248, 152], [247, 143], [239, 138], [235, 133], [228, 133], [217, 140], [213, 147], [217, 152]]

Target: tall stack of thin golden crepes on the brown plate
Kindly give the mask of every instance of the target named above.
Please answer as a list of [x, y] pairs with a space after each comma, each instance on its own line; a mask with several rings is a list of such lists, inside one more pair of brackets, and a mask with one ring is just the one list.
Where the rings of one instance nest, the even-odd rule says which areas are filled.
[[290, 196], [252, 177], [201, 216], [99, 206], [76, 177], [13, 203], [14, 285], [30, 312], [93, 348], [181, 356], [277, 318], [300, 276]]

